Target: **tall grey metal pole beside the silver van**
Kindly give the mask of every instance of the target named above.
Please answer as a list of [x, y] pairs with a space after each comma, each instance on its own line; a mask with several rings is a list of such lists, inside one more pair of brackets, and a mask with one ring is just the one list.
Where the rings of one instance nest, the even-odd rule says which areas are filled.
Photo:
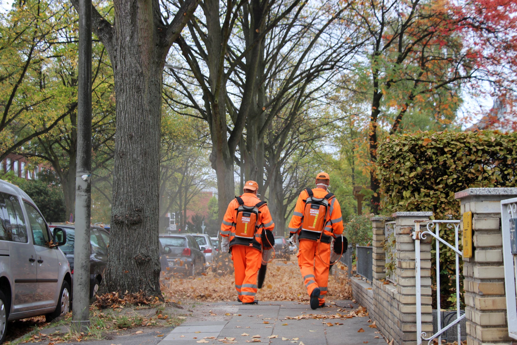
[[79, 0], [79, 89], [72, 329], [87, 332], [92, 201], [92, 0]]

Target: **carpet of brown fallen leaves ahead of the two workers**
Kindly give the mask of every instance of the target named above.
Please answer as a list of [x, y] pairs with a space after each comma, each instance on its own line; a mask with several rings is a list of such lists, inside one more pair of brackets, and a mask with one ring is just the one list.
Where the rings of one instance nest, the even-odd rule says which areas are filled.
[[[276, 263], [280, 262], [280, 265]], [[340, 269], [343, 267], [334, 267]], [[233, 275], [220, 276], [208, 272], [194, 279], [184, 279], [180, 275], [162, 278], [161, 291], [173, 302], [185, 299], [198, 299], [207, 302], [235, 301], [237, 292]], [[344, 271], [343, 271], [344, 272]], [[347, 278], [336, 279], [329, 275], [327, 296], [331, 299], [349, 299], [352, 287]], [[266, 279], [262, 289], [256, 294], [259, 301], [309, 301], [307, 289], [300, 275], [296, 256], [291, 261], [273, 260], [268, 264]]]

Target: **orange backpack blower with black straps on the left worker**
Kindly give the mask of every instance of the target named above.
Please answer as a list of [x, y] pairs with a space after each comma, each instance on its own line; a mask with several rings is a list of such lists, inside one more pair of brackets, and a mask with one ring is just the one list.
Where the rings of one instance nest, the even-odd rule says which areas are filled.
[[255, 239], [258, 230], [259, 209], [266, 204], [265, 201], [257, 202], [254, 206], [246, 206], [241, 197], [235, 197], [239, 203], [237, 220], [235, 222], [235, 237], [230, 241], [230, 248], [234, 245], [243, 245], [262, 250], [261, 244]]

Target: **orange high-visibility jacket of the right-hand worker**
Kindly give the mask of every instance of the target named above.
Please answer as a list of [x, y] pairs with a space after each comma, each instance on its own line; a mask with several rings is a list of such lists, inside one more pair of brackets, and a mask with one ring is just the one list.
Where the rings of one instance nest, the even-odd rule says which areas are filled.
[[[314, 193], [314, 198], [324, 198], [328, 191], [323, 188], [314, 188], [312, 189]], [[301, 219], [303, 216], [303, 209], [305, 208], [305, 201], [309, 197], [309, 194], [306, 190], [303, 190], [296, 201], [296, 206], [294, 208], [293, 217], [289, 222], [289, 232], [290, 233], [298, 233], [300, 235], [301, 232]], [[339, 202], [336, 200], [336, 197], [330, 199], [327, 219], [329, 219], [325, 227], [323, 228], [323, 236], [324, 238], [331, 239], [329, 236], [333, 236], [334, 238], [343, 233], [343, 218], [341, 216], [341, 206]], [[300, 239], [303, 237], [300, 236]], [[322, 238], [322, 242], [324, 241]]]

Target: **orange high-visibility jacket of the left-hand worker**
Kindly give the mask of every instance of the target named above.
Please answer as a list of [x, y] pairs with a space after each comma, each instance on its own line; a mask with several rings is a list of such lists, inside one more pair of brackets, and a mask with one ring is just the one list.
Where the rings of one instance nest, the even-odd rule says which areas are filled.
[[[240, 196], [240, 198], [242, 199], [242, 201], [244, 201], [244, 204], [246, 206], [255, 206], [258, 202], [261, 201], [253, 193], [244, 193]], [[233, 199], [228, 205], [226, 213], [224, 214], [223, 222], [221, 223], [221, 236], [230, 236], [230, 247], [235, 244], [241, 244], [235, 243], [235, 224], [237, 222], [238, 207], [239, 203], [237, 202], [237, 200]], [[260, 212], [257, 218], [258, 229], [255, 233], [256, 243], [255, 245], [253, 245], [253, 247], [260, 249], [260, 247], [262, 246], [262, 229], [273, 231], [273, 229], [275, 229], [275, 223], [273, 223], [271, 214], [269, 213], [269, 208], [266, 204], [258, 208], [258, 211]], [[274, 245], [274, 243], [272, 244]]]

